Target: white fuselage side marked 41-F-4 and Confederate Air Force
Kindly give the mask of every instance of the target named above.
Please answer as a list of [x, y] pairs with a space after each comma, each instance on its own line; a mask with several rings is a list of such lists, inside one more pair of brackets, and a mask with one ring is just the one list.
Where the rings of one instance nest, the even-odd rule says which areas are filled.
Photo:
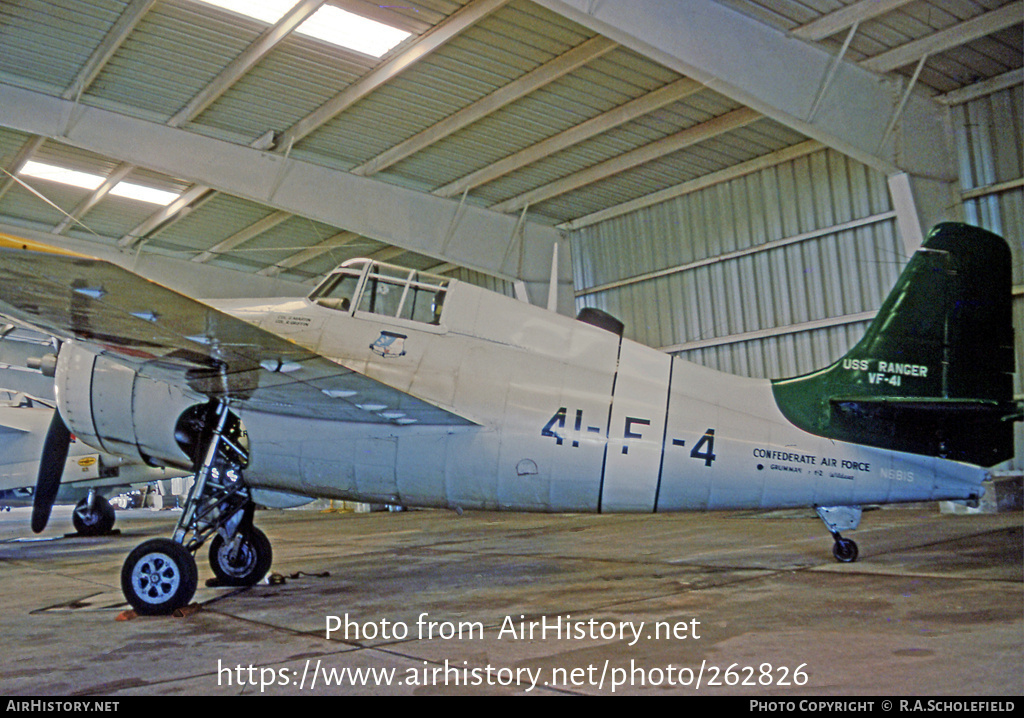
[[966, 499], [986, 476], [812, 435], [782, 416], [768, 381], [461, 283], [439, 324], [308, 299], [215, 305], [475, 423], [242, 411], [255, 488], [407, 506], [662, 512]]

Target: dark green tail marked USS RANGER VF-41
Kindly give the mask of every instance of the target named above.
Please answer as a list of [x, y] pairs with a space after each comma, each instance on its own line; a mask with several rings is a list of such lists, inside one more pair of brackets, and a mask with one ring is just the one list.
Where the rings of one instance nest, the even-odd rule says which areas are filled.
[[773, 382], [779, 409], [843, 441], [982, 466], [1010, 459], [1020, 419], [1011, 282], [1002, 238], [939, 224], [846, 356]]

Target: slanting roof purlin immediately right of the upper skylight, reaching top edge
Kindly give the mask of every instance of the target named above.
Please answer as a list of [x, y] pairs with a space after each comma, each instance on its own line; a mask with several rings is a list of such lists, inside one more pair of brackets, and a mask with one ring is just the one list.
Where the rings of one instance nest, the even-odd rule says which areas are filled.
[[443, 23], [410, 43], [391, 59], [370, 71], [315, 111], [296, 122], [286, 130], [276, 147], [288, 152], [316, 128], [330, 122], [339, 114], [359, 101], [388, 80], [408, 70], [428, 54], [444, 45], [467, 28], [480, 22], [510, 0], [473, 0], [454, 12]]

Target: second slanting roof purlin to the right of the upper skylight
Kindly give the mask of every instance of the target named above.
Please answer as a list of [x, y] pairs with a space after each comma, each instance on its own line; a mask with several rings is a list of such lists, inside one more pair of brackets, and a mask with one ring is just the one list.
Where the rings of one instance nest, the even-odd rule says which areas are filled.
[[387, 169], [406, 158], [415, 155], [434, 142], [449, 137], [464, 127], [482, 120], [492, 113], [498, 112], [507, 104], [520, 99], [536, 90], [549, 85], [560, 77], [579, 70], [591, 60], [607, 54], [616, 47], [615, 43], [600, 35], [581, 43], [571, 50], [560, 54], [522, 77], [513, 80], [485, 97], [450, 115], [440, 122], [428, 127], [418, 134], [399, 142], [377, 157], [352, 169], [354, 174], [365, 176]]

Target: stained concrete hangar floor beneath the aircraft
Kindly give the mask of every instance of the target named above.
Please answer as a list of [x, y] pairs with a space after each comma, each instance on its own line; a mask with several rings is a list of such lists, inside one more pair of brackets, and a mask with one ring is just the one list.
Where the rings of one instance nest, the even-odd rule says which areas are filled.
[[284, 583], [207, 588], [202, 550], [198, 611], [117, 620], [175, 520], [0, 514], [0, 694], [1024, 693], [1020, 512], [865, 512], [839, 564], [807, 511], [262, 511]]

